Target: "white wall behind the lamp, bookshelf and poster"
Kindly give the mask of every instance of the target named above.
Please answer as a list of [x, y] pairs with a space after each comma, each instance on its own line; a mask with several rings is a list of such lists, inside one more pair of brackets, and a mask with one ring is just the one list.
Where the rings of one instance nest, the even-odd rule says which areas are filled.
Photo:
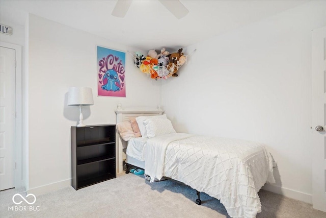
[[[72, 29], [35, 15], [29, 17], [29, 188], [70, 185], [70, 126], [79, 119], [77, 106], [67, 106], [70, 86], [93, 89], [94, 105], [84, 108], [86, 125], [116, 123], [115, 109], [156, 107], [160, 82], [148, 78], [126, 54], [126, 98], [97, 97], [96, 45], [119, 51], [131, 47]], [[46, 188], [45, 188], [46, 189]], [[48, 191], [45, 190], [44, 191]], [[42, 192], [42, 191], [41, 191]]]

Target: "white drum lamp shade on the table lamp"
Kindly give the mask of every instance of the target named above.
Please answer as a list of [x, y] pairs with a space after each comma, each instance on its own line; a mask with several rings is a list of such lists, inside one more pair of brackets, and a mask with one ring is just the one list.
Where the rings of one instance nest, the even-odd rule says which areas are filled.
[[70, 87], [68, 105], [94, 105], [92, 89], [89, 87]]

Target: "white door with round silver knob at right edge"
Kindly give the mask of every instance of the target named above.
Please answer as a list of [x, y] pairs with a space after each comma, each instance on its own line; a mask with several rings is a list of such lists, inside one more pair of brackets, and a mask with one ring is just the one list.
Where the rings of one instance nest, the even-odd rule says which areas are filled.
[[326, 27], [312, 31], [312, 206], [326, 212]]

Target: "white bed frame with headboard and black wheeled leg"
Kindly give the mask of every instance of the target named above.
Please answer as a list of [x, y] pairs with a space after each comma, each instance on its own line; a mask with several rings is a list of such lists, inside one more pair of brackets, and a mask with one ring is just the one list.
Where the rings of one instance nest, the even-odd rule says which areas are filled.
[[[155, 116], [155, 115], [162, 115], [164, 113], [164, 110], [161, 109], [161, 106], [157, 106], [157, 109], [152, 108], [127, 108], [122, 109], [121, 104], [118, 104], [117, 110], [115, 111], [117, 114], [117, 124], [121, 122], [127, 122], [130, 118], [134, 118], [137, 116]], [[140, 161], [135, 158], [129, 157], [126, 155], [126, 149], [127, 149], [127, 142], [124, 141], [118, 132], [118, 129], [116, 129], [116, 157], [117, 157], [117, 173], [123, 172], [123, 167], [125, 166], [126, 174], [129, 173], [130, 167], [136, 167], [145, 169], [145, 161]], [[167, 177], [165, 177], [167, 178]], [[176, 181], [171, 178], [167, 178], [169, 180], [173, 180], [177, 183], [182, 183], [179, 181]], [[182, 183], [184, 184], [184, 183]], [[201, 205], [200, 200], [200, 192], [196, 190], [197, 197], [196, 204]]]

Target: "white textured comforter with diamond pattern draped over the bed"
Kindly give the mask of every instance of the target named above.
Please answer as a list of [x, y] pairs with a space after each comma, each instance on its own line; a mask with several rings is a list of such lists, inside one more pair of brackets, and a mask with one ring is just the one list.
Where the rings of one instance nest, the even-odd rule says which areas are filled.
[[257, 192], [274, 183], [273, 162], [262, 144], [184, 133], [148, 139], [145, 174], [178, 180], [220, 199], [232, 217], [261, 212]]

